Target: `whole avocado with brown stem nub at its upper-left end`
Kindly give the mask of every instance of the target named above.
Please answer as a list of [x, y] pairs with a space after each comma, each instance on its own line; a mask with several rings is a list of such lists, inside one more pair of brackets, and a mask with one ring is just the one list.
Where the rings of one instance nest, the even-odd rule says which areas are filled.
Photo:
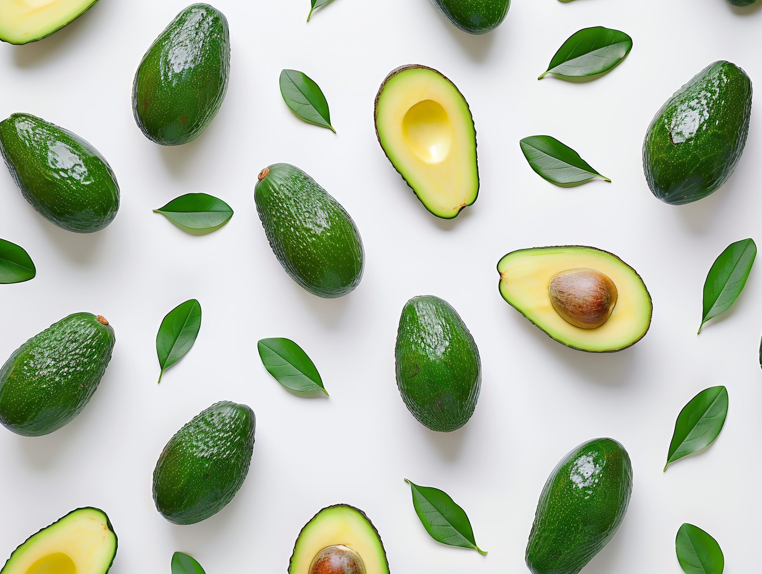
[[313, 295], [350, 293], [365, 254], [354, 221], [301, 169], [276, 163], [259, 172], [254, 200], [267, 241], [287, 274]]

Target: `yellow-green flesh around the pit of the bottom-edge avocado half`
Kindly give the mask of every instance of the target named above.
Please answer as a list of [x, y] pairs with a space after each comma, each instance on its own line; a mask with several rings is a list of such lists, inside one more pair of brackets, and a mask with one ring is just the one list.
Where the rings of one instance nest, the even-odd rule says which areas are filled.
[[339, 544], [360, 555], [365, 574], [389, 574], [386, 551], [373, 523], [359, 508], [344, 504], [323, 508], [305, 524], [293, 547], [289, 574], [310, 574], [317, 553]]

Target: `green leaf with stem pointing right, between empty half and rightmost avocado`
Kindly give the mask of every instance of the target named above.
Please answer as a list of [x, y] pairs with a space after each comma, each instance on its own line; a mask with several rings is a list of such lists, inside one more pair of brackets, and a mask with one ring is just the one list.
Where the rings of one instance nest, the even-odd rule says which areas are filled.
[[574, 149], [551, 136], [529, 136], [520, 142], [521, 151], [530, 167], [541, 178], [562, 188], [573, 188], [591, 181], [604, 178], [585, 162]]

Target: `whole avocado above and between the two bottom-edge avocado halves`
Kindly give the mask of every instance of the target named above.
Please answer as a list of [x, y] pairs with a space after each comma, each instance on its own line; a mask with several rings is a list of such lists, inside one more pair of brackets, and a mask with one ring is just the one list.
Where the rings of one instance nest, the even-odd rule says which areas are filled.
[[254, 452], [254, 412], [220, 401], [169, 440], [153, 471], [153, 501], [174, 524], [195, 524], [222, 510], [239, 491]]

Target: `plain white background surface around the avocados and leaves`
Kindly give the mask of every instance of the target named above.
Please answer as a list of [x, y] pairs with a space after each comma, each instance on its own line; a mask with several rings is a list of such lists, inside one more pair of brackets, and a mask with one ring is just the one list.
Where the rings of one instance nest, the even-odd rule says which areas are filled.
[[[0, 564], [30, 534], [94, 505], [119, 537], [114, 574], [166, 574], [175, 550], [207, 574], [285, 572], [299, 529], [346, 502], [378, 528], [392, 572], [526, 572], [548, 474], [577, 444], [609, 436], [632, 457], [634, 490], [620, 531], [586, 574], [680, 574], [683, 522], [716, 537], [727, 572], [758, 566], [762, 263], [732, 309], [696, 330], [712, 261], [738, 239], [762, 241], [762, 126], [755, 109], [735, 174], [684, 207], [652, 196], [640, 150], [661, 104], [709, 63], [730, 60], [759, 89], [762, 2], [515, 0], [498, 30], [472, 37], [428, 0], [335, 0], [309, 24], [308, 0], [215, 0], [232, 34], [227, 98], [194, 142], [161, 147], [136, 127], [130, 90], [143, 53], [186, 2], [103, 0], [46, 40], [0, 45], [0, 116], [28, 112], [78, 133], [108, 159], [122, 191], [114, 223], [78, 235], [43, 220], [0, 173], [0, 236], [37, 265], [34, 280], [0, 286], [0, 360], [77, 311], [106, 316], [117, 335], [101, 386], [74, 422], [42, 438], [0, 428]], [[632, 36], [620, 66], [594, 82], [536, 80], [568, 36], [596, 25]], [[454, 221], [424, 209], [376, 142], [376, 90], [407, 63], [440, 70], [471, 106], [482, 187]], [[318, 82], [337, 135], [283, 104], [283, 68]], [[561, 139], [613, 183], [543, 181], [518, 144], [536, 134]], [[306, 293], [272, 254], [253, 188], [274, 162], [303, 168], [357, 223], [367, 265], [347, 297]], [[232, 206], [227, 226], [189, 236], [152, 213], [196, 191]], [[606, 249], [642, 275], [654, 316], [634, 347], [565, 348], [501, 299], [502, 255], [568, 244]], [[420, 425], [395, 384], [399, 313], [420, 294], [449, 301], [482, 356], [473, 418], [447, 435]], [[200, 335], [157, 386], [158, 325], [191, 297], [203, 308]], [[302, 345], [329, 399], [293, 396], [267, 374], [256, 342], [273, 336]], [[662, 473], [678, 412], [720, 384], [730, 396], [722, 434]], [[158, 454], [223, 399], [257, 415], [248, 478], [213, 518], [170, 524], [151, 497]], [[434, 542], [405, 477], [452, 495], [488, 556]]]

